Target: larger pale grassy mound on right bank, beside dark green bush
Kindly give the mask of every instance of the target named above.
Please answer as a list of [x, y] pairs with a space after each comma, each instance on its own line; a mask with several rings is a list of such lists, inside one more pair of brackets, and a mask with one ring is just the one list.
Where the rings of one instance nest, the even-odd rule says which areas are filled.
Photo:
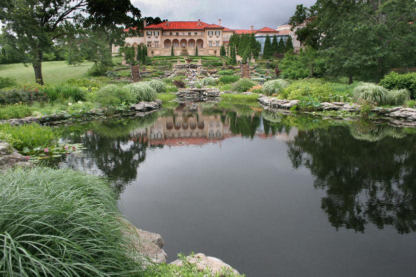
[[389, 105], [389, 90], [372, 83], [360, 83], [353, 91], [354, 99], [358, 103]]

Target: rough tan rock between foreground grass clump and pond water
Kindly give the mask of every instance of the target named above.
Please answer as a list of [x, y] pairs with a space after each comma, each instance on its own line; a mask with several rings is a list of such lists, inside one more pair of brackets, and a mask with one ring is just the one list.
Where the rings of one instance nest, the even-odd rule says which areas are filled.
[[140, 230], [131, 223], [128, 225], [128, 232], [125, 233], [132, 242], [136, 250], [154, 263], [166, 263], [167, 255], [162, 247], [165, 242], [162, 236], [156, 233]]

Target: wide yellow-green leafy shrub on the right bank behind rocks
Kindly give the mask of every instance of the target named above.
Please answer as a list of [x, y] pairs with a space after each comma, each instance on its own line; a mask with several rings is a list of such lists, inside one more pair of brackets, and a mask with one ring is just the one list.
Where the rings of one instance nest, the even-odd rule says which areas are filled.
[[331, 87], [314, 80], [301, 80], [290, 84], [279, 93], [283, 99], [307, 99], [308, 102], [326, 102], [329, 101], [332, 94]]

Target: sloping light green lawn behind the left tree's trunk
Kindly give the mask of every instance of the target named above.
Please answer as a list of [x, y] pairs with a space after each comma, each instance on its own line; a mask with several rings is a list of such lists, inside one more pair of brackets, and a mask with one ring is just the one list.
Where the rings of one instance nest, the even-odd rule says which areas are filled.
[[[45, 84], [60, 84], [71, 78], [85, 77], [92, 62], [84, 62], [80, 66], [68, 66], [66, 61], [42, 62], [42, 75]], [[34, 83], [33, 67], [25, 67], [21, 63], [1, 64], [0, 76], [11, 77], [19, 83]]]

